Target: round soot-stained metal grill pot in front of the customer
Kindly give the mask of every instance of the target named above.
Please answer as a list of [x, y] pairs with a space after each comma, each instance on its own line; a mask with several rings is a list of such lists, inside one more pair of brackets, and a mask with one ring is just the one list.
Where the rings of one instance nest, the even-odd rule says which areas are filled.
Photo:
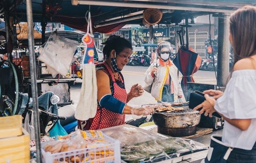
[[[148, 104], [144, 106], [157, 109], [162, 107], [163, 104]], [[190, 109], [189, 103], [182, 103], [182, 105], [173, 107], [183, 107], [184, 110], [169, 113], [167, 111], [154, 112], [153, 119], [154, 123], [157, 125], [157, 132], [160, 134], [170, 135], [172, 137], [184, 137], [195, 134], [196, 125], [200, 122], [201, 114], [199, 114], [198, 111]]]

